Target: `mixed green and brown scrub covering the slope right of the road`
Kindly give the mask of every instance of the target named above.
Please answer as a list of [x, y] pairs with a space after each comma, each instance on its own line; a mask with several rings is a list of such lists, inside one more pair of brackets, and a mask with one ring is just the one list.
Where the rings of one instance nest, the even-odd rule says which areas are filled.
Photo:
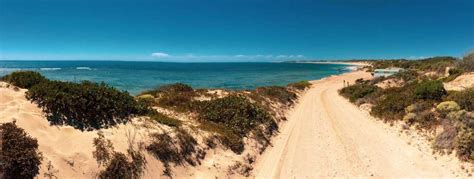
[[[422, 131], [441, 127], [442, 132], [434, 136], [433, 148], [441, 153], [456, 151], [461, 160], [474, 162], [474, 87], [447, 91], [443, 85], [472, 71], [468, 65], [473, 64], [472, 56], [471, 53], [462, 60], [434, 57], [374, 61], [372, 68], [407, 70], [390, 77], [358, 80], [341, 89], [340, 94], [358, 105], [369, 104], [370, 114], [385, 121], [400, 120]], [[378, 84], [387, 79], [403, 83], [398, 87], [379, 88]]]

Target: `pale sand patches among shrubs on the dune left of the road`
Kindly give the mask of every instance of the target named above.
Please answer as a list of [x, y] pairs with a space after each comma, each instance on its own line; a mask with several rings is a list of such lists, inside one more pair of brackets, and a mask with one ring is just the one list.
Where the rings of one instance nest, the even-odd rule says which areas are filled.
[[[68, 126], [51, 126], [41, 109], [25, 98], [26, 90], [15, 91], [6, 86], [6, 83], [0, 82], [0, 123], [16, 121], [19, 127], [38, 140], [39, 150], [44, 158], [37, 177], [44, 178], [46, 164], [51, 162], [54, 167], [52, 173], [58, 178], [95, 178], [102, 169], [92, 156], [92, 151], [95, 150], [92, 142], [97, 137], [97, 131], [82, 132]], [[112, 141], [116, 151], [126, 153], [131, 138], [129, 136], [135, 136], [135, 143], [144, 142], [150, 133], [163, 130], [169, 131], [169, 128], [135, 118], [126, 125], [101, 131]], [[198, 134], [194, 136], [200, 139]], [[147, 152], [144, 153], [147, 159], [144, 178], [165, 178], [162, 175], [163, 164]], [[228, 167], [243, 158], [230, 150], [215, 149], [207, 153], [205, 161], [197, 167], [172, 165], [173, 176], [224, 178]]]

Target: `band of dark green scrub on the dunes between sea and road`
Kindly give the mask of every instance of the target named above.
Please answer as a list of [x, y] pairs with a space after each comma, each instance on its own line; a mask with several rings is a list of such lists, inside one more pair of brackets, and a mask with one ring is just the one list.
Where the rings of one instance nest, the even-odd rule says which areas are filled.
[[[263, 152], [278, 130], [277, 121], [285, 119], [282, 113], [311, 85], [301, 81], [234, 91], [193, 89], [176, 83], [134, 97], [105, 83], [54, 81], [31, 71], [14, 72], [1, 80], [26, 88], [26, 98], [43, 110], [51, 125], [98, 130], [92, 152], [101, 169], [98, 178], [141, 177], [146, 167], [142, 150], [163, 162], [167, 176], [173, 175], [172, 164], [195, 166], [205, 157], [205, 150], [217, 146], [242, 155], [255, 142], [252, 146]], [[130, 145], [126, 153], [115, 151], [101, 129], [128, 123], [134, 117], [157, 125], [160, 132], [149, 133], [150, 140], [138, 149]], [[196, 138], [196, 130], [204, 135], [202, 139]], [[249, 165], [241, 166], [248, 175]], [[29, 171], [38, 174], [38, 170]]]

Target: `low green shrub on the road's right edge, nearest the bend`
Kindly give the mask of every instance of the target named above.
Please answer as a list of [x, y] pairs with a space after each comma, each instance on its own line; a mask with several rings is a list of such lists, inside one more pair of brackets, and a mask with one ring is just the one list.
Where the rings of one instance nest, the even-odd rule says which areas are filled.
[[349, 101], [355, 102], [357, 99], [364, 98], [372, 93], [375, 93], [379, 90], [377, 86], [364, 84], [364, 83], [357, 83], [345, 88], [342, 88], [339, 93], [349, 98]]

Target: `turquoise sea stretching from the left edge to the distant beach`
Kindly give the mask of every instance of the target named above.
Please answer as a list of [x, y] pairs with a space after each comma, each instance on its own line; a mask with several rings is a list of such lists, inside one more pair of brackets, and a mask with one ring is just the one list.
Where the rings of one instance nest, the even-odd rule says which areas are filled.
[[38, 71], [49, 79], [105, 82], [131, 94], [182, 82], [194, 88], [254, 89], [347, 72], [347, 65], [308, 63], [164, 63], [124, 61], [0, 61], [0, 76]]

